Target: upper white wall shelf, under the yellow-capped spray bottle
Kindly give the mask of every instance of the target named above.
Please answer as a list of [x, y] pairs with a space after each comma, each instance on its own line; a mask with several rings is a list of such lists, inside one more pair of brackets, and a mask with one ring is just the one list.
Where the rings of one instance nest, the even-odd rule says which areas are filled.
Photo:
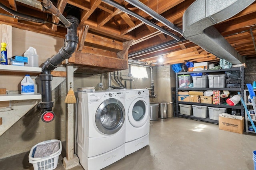
[[0, 64], [0, 71], [40, 73], [40, 72], [42, 72], [42, 68], [41, 67], [13, 66], [13, 65]]

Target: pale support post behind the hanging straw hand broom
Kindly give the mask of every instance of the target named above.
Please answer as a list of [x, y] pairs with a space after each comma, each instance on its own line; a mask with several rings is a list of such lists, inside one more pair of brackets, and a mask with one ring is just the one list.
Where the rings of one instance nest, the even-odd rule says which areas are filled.
[[[74, 67], [70, 64], [66, 66], [67, 71], [67, 93], [70, 86], [74, 86]], [[63, 165], [66, 169], [79, 165], [79, 160], [74, 154], [74, 104], [67, 104], [66, 118], [66, 157], [63, 159]]]

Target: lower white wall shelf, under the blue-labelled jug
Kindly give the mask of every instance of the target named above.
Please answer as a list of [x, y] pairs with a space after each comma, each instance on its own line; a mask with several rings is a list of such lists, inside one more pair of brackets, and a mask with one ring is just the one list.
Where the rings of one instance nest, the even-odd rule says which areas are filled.
[[33, 100], [41, 99], [42, 95], [40, 93], [35, 94], [0, 94], [0, 101], [10, 101], [10, 100]]

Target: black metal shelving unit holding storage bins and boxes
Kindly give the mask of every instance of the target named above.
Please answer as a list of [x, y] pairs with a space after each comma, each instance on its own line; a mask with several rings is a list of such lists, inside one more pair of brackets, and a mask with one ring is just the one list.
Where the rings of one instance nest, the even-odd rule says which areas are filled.
[[[222, 74], [225, 71], [233, 71], [233, 70], [240, 70], [240, 88], [179, 88], [179, 81], [178, 81], [178, 75], [183, 74], [191, 74], [191, 73], [216, 73], [216, 74]], [[233, 108], [233, 109], [240, 109], [241, 115], [244, 116], [244, 107], [241, 106], [229, 106], [229, 105], [215, 105], [215, 104], [202, 104], [202, 103], [196, 103], [196, 102], [180, 102], [178, 101], [178, 91], [180, 90], [228, 90], [228, 91], [238, 91], [241, 93], [242, 96], [244, 96], [244, 67], [237, 67], [237, 68], [229, 68], [229, 69], [220, 69], [220, 70], [201, 70], [201, 71], [193, 71], [193, 72], [178, 72], [176, 73], [176, 117], [185, 117], [195, 120], [201, 120], [201, 121], [207, 121], [210, 123], [218, 123], [217, 120], [212, 120], [209, 118], [201, 118], [201, 117], [194, 117], [193, 115], [183, 115], [179, 113], [179, 104], [193, 104], [193, 105], [199, 105], [199, 106], [210, 106], [210, 107], [222, 107], [222, 108]]]

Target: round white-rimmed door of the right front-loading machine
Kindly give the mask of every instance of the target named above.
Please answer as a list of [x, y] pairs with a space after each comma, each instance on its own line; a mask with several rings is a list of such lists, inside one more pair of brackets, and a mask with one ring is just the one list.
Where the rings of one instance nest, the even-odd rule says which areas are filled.
[[148, 106], [143, 98], [136, 98], [128, 109], [128, 119], [134, 127], [141, 127], [148, 121]]

